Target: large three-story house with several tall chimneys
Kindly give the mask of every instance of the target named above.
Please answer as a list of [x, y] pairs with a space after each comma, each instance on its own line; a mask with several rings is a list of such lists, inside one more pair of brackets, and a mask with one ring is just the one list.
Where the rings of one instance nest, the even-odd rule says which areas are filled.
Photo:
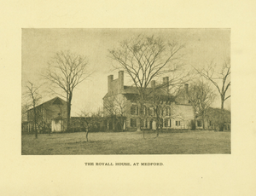
[[[151, 82], [151, 87], [146, 89], [147, 98], [143, 103], [140, 113], [143, 113], [143, 119], [138, 118], [138, 100], [137, 88], [124, 85], [124, 72], [119, 72], [119, 77], [113, 79], [113, 75], [108, 76], [108, 93], [103, 97], [103, 114], [108, 119], [108, 129], [114, 129], [119, 120], [119, 128], [124, 130], [136, 130], [138, 121], [140, 126], [145, 129], [156, 129], [155, 105], [152, 102], [153, 93], [160, 97], [160, 118], [163, 129], [190, 129], [191, 120], [194, 119], [194, 109], [189, 104], [188, 91], [189, 85], [184, 85], [183, 93], [179, 95], [170, 95], [169, 78], [163, 78], [163, 88], [157, 89], [155, 81]], [[155, 89], [155, 90], [154, 90]], [[151, 98], [150, 98], [151, 97]]]

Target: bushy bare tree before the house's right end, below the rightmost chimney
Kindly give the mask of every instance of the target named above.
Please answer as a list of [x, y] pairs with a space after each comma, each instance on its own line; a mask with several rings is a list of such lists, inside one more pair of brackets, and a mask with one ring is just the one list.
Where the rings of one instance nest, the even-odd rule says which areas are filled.
[[191, 84], [188, 91], [190, 104], [194, 107], [195, 113], [201, 116], [203, 129], [205, 129], [205, 118], [208, 108], [215, 100], [216, 94], [213, 92], [210, 85], [202, 80]]

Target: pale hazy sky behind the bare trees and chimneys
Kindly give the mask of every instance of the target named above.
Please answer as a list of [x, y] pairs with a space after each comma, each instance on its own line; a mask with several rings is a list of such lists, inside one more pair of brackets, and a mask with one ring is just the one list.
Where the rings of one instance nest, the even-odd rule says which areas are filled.
[[[27, 80], [34, 84], [42, 82], [40, 73], [48, 67], [47, 62], [56, 52], [70, 50], [86, 56], [88, 68], [94, 71], [88, 80], [74, 89], [71, 115], [77, 116], [83, 109], [94, 112], [102, 107], [102, 98], [108, 91], [108, 75], [113, 74], [113, 79], [118, 75], [113, 71], [108, 49], [118, 47], [120, 41], [140, 33], [184, 43], [184, 61], [188, 67], [203, 66], [212, 59], [221, 66], [224, 56], [230, 57], [229, 29], [22, 29], [22, 92]], [[129, 84], [127, 77], [125, 84]], [[44, 91], [42, 95], [42, 101], [55, 97]], [[220, 107], [219, 95], [212, 107]], [[230, 109], [230, 99], [225, 102], [225, 107]]]

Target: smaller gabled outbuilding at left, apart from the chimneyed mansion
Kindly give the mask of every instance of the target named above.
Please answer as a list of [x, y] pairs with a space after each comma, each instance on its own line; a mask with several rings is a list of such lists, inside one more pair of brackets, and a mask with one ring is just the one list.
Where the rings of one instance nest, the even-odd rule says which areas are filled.
[[[36, 107], [37, 128], [39, 132], [65, 131], [64, 119], [67, 118], [67, 101], [60, 97], [45, 101]], [[27, 121], [22, 124], [22, 131], [34, 131], [34, 110], [27, 111]]]

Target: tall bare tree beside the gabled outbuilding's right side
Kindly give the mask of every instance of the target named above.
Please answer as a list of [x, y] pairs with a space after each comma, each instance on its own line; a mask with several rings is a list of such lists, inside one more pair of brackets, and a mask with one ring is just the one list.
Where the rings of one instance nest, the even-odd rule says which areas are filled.
[[73, 90], [92, 74], [88, 71], [87, 65], [88, 62], [84, 56], [73, 54], [70, 51], [61, 51], [49, 61], [49, 68], [44, 74], [44, 78], [50, 84], [53, 84], [55, 88], [60, 88], [66, 94], [67, 131], [70, 127]]

